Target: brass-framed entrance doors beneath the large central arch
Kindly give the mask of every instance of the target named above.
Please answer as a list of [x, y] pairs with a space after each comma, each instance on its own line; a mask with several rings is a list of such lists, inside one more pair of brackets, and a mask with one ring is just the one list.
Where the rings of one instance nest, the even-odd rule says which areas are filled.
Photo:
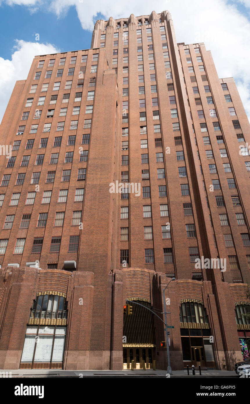
[[153, 348], [123, 348], [123, 368], [131, 369], [134, 360], [134, 369], [142, 369], [143, 361], [146, 369], [153, 368]]

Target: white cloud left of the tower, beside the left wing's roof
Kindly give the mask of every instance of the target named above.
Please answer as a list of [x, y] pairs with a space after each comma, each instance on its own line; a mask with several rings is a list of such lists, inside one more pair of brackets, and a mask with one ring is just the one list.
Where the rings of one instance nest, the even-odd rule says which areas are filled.
[[51, 44], [16, 40], [11, 60], [0, 57], [0, 120], [17, 80], [25, 80], [36, 55], [60, 52]]

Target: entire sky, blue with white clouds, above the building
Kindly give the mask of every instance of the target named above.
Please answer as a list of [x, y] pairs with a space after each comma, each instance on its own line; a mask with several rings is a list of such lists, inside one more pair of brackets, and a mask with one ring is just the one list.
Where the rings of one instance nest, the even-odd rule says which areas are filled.
[[0, 120], [34, 55], [89, 48], [97, 19], [148, 15], [152, 7], [170, 11], [177, 42], [205, 43], [218, 76], [235, 78], [250, 117], [250, 0], [0, 0]]

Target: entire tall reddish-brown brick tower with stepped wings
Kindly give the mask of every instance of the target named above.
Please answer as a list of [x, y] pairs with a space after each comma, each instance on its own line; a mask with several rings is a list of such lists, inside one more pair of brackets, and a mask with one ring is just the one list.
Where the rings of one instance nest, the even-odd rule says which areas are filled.
[[172, 277], [172, 369], [249, 355], [249, 122], [168, 11], [36, 56], [0, 128], [0, 368], [166, 368]]

